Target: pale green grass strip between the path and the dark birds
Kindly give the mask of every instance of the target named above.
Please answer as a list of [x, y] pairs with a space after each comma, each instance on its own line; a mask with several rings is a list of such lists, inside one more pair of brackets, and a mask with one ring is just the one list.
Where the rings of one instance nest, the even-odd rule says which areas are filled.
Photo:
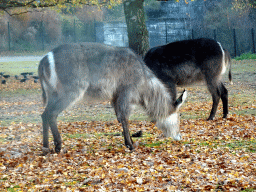
[[6, 75], [20, 75], [23, 72], [34, 72], [37, 75], [38, 61], [10, 61], [0, 63], [0, 72]]

